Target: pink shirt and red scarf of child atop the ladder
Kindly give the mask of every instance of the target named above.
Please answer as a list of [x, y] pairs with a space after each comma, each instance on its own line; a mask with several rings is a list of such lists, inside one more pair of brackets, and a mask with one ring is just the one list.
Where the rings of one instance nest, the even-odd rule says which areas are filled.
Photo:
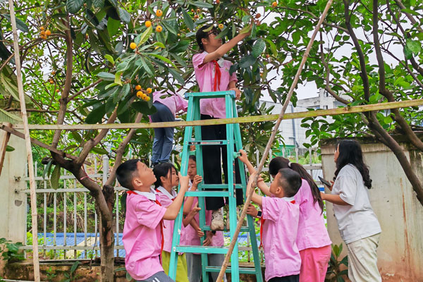
[[[207, 52], [203, 51], [200, 54], [192, 56], [192, 64], [194, 65], [195, 79], [197, 80], [200, 92], [212, 91], [226, 91], [228, 90], [229, 82], [238, 81], [236, 73], [229, 75], [229, 69], [232, 66], [230, 61], [223, 58], [219, 61], [204, 63], [204, 58]], [[219, 66], [220, 79], [216, 78], [216, 66]], [[216, 86], [216, 87], [215, 87]], [[224, 98], [210, 98], [200, 100], [201, 114], [212, 116], [212, 118], [226, 118]]]

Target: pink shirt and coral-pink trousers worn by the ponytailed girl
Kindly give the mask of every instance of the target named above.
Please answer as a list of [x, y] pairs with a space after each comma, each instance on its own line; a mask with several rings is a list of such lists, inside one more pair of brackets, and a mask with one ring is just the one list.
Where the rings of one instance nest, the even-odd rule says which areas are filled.
[[300, 190], [294, 196], [300, 205], [297, 247], [302, 259], [300, 281], [324, 281], [331, 257], [331, 238], [324, 224], [323, 214], [307, 180], [302, 179]]

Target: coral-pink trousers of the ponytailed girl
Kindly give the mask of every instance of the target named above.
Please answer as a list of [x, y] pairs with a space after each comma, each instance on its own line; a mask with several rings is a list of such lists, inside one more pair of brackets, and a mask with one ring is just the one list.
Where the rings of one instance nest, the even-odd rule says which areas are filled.
[[331, 258], [331, 245], [300, 250], [300, 282], [324, 282]]

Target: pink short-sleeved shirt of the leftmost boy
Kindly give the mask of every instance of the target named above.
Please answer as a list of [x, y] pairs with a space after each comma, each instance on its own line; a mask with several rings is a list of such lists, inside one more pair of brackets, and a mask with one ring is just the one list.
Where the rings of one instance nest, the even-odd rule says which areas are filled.
[[159, 255], [162, 246], [162, 226], [166, 208], [159, 196], [151, 192], [128, 191], [126, 198], [123, 247], [126, 271], [135, 280], [145, 280], [163, 271]]

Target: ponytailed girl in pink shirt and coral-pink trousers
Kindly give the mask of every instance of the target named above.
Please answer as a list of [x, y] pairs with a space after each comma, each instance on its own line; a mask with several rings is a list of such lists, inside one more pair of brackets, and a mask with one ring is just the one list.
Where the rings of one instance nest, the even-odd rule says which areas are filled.
[[[255, 171], [247, 154], [241, 152], [243, 161], [250, 173]], [[269, 174], [274, 178], [281, 168], [290, 168], [300, 174], [302, 185], [295, 195], [295, 202], [300, 205], [300, 221], [298, 223], [297, 247], [301, 256], [300, 281], [324, 282], [326, 271], [331, 258], [331, 239], [324, 224], [323, 201], [320, 191], [305, 168], [300, 164], [291, 163], [283, 157], [276, 157], [270, 161]], [[260, 190], [270, 195], [269, 188], [264, 182], [258, 183]], [[254, 207], [249, 207], [252, 216], [257, 215]]]

